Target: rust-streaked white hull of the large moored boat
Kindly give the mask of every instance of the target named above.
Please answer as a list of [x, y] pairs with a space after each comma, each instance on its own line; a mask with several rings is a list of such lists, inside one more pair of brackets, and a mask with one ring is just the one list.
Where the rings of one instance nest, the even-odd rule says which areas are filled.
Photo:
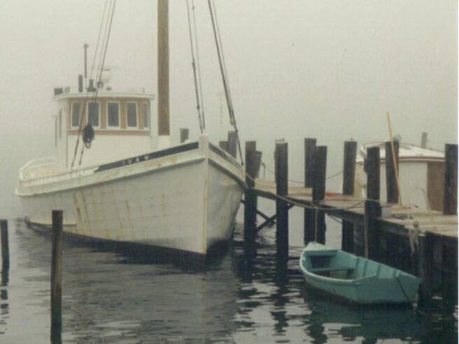
[[77, 171], [70, 179], [22, 181], [17, 194], [24, 214], [49, 225], [50, 210], [59, 208], [69, 234], [203, 255], [227, 241], [243, 191], [236, 162], [206, 136], [151, 156]]

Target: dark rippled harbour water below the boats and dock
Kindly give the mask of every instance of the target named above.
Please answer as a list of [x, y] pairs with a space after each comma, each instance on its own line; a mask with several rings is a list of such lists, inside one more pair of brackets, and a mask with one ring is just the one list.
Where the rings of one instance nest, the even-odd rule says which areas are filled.
[[[242, 229], [204, 271], [64, 244], [64, 343], [457, 343], [453, 315], [357, 310], [304, 287], [290, 248], [278, 271], [275, 229], [243, 255]], [[0, 289], [0, 343], [50, 341], [50, 238], [10, 222]], [[8, 280], [9, 277], [9, 280]]]

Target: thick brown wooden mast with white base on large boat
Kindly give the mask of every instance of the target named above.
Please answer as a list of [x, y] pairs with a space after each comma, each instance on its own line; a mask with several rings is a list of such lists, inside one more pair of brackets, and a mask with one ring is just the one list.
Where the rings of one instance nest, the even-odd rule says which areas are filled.
[[157, 6], [157, 89], [158, 148], [169, 141], [169, 0], [158, 0]]

